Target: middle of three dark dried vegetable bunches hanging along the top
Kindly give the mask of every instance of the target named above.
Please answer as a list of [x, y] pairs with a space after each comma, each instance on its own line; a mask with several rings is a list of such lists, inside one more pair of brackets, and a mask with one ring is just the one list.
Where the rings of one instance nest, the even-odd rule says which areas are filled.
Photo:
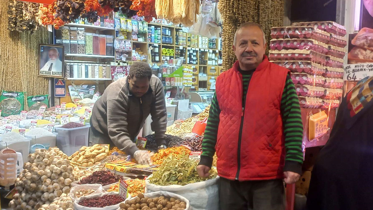
[[58, 0], [54, 6], [56, 9], [56, 18], [70, 23], [79, 18], [84, 9], [84, 0]]

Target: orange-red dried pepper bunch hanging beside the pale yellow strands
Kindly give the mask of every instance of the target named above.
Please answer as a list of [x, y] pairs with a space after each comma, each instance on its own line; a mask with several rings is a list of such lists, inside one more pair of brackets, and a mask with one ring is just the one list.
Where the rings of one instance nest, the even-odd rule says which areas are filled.
[[130, 9], [137, 10], [137, 16], [144, 16], [144, 20], [150, 22], [156, 17], [155, 0], [133, 0]]

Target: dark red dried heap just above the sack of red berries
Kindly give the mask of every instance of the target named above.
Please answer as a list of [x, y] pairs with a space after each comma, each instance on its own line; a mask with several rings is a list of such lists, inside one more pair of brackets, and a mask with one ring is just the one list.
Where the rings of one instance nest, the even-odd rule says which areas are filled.
[[83, 184], [101, 184], [102, 186], [110, 185], [115, 182], [119, 182], [122, 176], [113, 174], [109, 171], [97, 171], [93, 172], [90, 176], [87, 176], [80, 180], [79, 185]]

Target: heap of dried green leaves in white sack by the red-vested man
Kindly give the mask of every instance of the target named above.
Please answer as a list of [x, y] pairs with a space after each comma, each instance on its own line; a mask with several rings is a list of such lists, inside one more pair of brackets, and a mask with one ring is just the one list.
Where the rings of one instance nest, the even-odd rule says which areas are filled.
[[207, 179], [214, 179], [217, 175], [212, 169], [208, 178], [201, 178], [197, 173], [197, 163], [190, 160], [188, 155], [169, 155], [158, 167], [158, 170], [149, 178], [151, 184], [167, 185], [187, 185], [190, 183], [203, 182]]

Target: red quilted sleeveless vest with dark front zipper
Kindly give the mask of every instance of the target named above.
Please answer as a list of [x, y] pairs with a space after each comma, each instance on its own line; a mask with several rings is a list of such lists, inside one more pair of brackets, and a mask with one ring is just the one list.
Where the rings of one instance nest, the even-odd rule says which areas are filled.
[[264, 56], [251, 77], [242, 111], [242, 75], [238, 69], [236, 61], [216, 81], [221, 110], [216, 143], [218, 174], [240, 181], [282, 179], [285, 145], [280, 104], [289, 70]]

